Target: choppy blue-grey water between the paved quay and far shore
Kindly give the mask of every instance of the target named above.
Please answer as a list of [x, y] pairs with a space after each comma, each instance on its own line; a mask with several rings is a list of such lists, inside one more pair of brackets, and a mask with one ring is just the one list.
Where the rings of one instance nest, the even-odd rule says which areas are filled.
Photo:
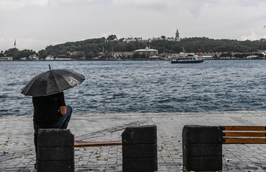
[[266, 110], [266, 60], [0, 62], [0, 115], [32, 115], [20, 94], [35, 75], [64, 68], [86, 80], [66, 90], [75, 113]]

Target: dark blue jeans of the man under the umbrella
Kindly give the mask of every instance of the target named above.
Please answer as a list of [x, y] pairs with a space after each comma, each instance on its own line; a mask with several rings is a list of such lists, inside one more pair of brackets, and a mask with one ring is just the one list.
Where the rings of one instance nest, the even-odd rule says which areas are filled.
[[[65, 115], [59, 115], [60, 121], [58, 121], [56, 124], [52, 126], [39, 126], [37, 124], [33, 123], [34, 126], [34, 145], [35, 145], [35, 152], [36, 152], [36, 162], [37, 162], [37, 151], [38, 151], [38, 130], [41, 128], [59, 128], [59, 129], [66, 129], [69, 123], [69, 120], [71, 118], [72, 114], [72, 107], [69, 105], [66, 105], [66, 114]], [[47, 140], [48, 141], [48, 140]]]

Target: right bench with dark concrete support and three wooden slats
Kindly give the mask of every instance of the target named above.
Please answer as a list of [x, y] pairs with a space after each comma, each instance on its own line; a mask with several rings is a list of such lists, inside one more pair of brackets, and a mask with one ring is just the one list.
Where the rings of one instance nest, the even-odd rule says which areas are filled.
[[266, 144], [266, 127], [185, 125], [183, 167], [188, 171], [221, 171], [222, 144]]

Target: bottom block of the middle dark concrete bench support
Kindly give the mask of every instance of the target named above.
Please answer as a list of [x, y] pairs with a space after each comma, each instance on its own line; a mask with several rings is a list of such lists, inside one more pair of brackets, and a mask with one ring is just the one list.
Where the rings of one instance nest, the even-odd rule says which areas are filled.
[[[157, 157], [155, 158], [125, 158], [123, 159], [124, 172], [157, 171]], [[39, 172], [39, 171], [38, 171]]]

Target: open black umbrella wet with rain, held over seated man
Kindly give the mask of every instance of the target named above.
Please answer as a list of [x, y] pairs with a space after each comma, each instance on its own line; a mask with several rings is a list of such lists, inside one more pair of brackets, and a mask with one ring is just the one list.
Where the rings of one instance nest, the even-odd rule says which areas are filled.
[[53, 69], [33, 77], [22, 89], [22, 94], [28, 96], [51, 95], [74, 88], [81, 84], [85, 77], [68, 69]]

